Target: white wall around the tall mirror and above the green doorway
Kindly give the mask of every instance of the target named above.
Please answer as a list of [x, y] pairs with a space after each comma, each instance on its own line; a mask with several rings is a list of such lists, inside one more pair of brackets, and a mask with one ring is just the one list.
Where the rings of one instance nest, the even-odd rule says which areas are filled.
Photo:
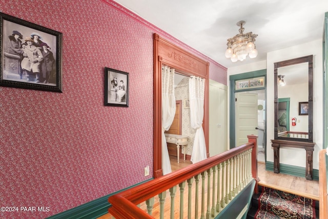
[[[267, 61], [242, 65], [228, 69], [228, 75], [267, 69], [267, 161], [273, 162], [271, 140], [274, 138], [274, 63], [287, 59], [313, 55], [313, 142], [316, 143], [313, 153], [313, 168], [319, 169], [319, 151], [322, 149], [322, 39], [269, 52]], [[228, 76], [228, 85], [229, 76]], [[228, 111], [230, 112], [230, 111]], [[230, 115], [229, 115], [230, 116]], [[305, 167], [305, 150], [281, 148], [280, 163]]]

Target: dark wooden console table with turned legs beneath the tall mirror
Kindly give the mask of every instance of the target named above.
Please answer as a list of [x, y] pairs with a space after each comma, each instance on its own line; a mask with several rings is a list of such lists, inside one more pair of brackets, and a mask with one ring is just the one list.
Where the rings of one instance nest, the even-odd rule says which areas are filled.
[[312, 142], [295, 142], [285, 140], [271, 140], [274, 151], [274, 162], [273, 169], [275, 173], [280, 172], [279, 163], [279, 148], [290, 147], [290, 148], [302, 148], [306, 151], [306, 166], [305, 166], [305, 178], [306, 180], [313, 179], [313, 151], [316, 143]]

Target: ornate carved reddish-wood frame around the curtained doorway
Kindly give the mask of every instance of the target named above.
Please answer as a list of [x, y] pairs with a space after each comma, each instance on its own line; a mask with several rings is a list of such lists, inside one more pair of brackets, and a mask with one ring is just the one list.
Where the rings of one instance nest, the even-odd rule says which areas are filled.
[[154, 172], [155, 178], [162, 176], [161, 157], [161, 67], [168, 65], [187, 76], [199, 76], [205, 79], [203, 130], [207, 156], [209, 157], [209, 66], [210, 63], [177, 47], [154, 33]]

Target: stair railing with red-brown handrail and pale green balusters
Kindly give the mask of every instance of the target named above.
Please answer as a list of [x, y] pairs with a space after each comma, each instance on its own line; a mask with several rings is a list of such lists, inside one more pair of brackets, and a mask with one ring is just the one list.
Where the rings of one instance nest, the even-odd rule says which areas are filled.
[[[166, 210], [166, 213], [171, 213], [171, 218], [175, 218], [175, 214], [183, 218], [183, 213], [188, 214], [188, 218], [215, 217], [252, 178], [256, 181], [257, 192], [257, 135], [248, 135], [248, 139], [247, 144], [110, 196], [108, 212], [115, 218], [155, 218], [151, 215], [154, 212], [158, 218], [164, 218], [164, 203], [166, 197], [171, 196], [171, 208]], [[193, 181], [196, 186], [193, 186]], [[183, 193], [186, 185], [188, 196]], [[193, 197], [192, 187], [195, 189]], [[178, 195], [180, 208], [177, 212], [174, 204], [178, 201], [174, 198]], [[183, 197], [187, 197], [188, 206], [183, 206]], [[157, 202], [154, 204], [155, 198]], [[144, 209], [140, 207], [142, 205]]]

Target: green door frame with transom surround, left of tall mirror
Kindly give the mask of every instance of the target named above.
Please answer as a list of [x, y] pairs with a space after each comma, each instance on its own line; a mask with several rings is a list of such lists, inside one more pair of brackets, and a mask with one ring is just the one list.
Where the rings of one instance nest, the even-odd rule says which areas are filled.
[[[250, 89], [242, 89], [236, 90], [236, 81], [241, 79], [250, 79], [255, 77], [264, 76], [264, 87], [260, 88], [250, 88]], [[250, 71], [241, 74], [234, 74], [229, 76], [230, 80], [230, 99], [229, 99], [229, 143], [230, 149], [235, 148], [236, 146], [236, 105], [235, 105], [235, 93], [237, 92], [244, 92], [244, 91], [254, 91], [254, 90], [265, 90], [265, 99], [267, 99], [267, 69], [257, 70], [257, 71]], [[265, 101], [265, 109], [267, 109], [267, 101]], [[267, 113], [265, 113], [265, 133], [267, 133]], [[267, 142], [267, 136], [265, 137], [265, 142]], [[267, 144], [265, 144], [267, 147]], [[265, 148], [266, 150], [266, 148]], [[265, 154], [265, 161], [267, 160], [267, 156]]]

